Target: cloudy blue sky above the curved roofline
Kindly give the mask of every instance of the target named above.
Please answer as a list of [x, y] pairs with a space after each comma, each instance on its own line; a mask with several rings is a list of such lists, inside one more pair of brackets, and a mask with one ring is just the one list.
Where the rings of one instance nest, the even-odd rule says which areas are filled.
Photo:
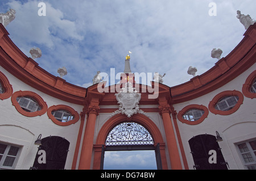
[[[39, 2], [46, 16], [38, 15]], [[216, 16], [209, 15], [210, 2]], [[18, 48], [28, 57], [40, 48], [40, 67], [59, 76], [65, 66], [64, 79], [83, 87], [97, 71], [122, 72], [129, 50], [134, 73], [166, 73], [170, 87], [187, 82], [189, 66], [203, 74], [217, 62], [213, 48], [225, 57], [243, 39], [237, 10], [256, 19], [255, 0], [1, 0], [0, 12], [9, 9], [16, 18], [6, 29]]]

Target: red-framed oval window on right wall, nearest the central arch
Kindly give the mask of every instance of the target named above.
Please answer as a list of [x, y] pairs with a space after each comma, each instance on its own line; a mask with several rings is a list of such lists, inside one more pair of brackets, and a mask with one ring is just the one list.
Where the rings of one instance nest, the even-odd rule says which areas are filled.
[[208, 116], [208, 108], [203, 105], [191, 104], [184, 107], [177, 118], [185, 124], [196, 125], [202, 123]]

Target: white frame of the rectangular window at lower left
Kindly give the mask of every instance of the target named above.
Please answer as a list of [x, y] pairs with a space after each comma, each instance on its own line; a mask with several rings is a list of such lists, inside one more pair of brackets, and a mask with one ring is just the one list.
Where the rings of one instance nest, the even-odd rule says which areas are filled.
[[[6, 143], [6, 142], [0, 142], [0, 144], [7, 145], [7, 147], [5, 149], [5, 152], [3, 154], [1, 154], [1, 155], [3, 155], [3, 157], [1, 158], [1, 161], [0, 161], [0, 170], [14, 170], [15, 167], [16, 167], [16, 164], [17, 164], [17, 162], [19, 160], [20, 153], [22, 151], [22, 146], [14, 145], [14, 144], [9, 144], [9, 143]], [[19, 148], [19, 150], [18, 150], [18, 152], [17, 152], [17, 154], [15, 156], [14, 155], [8, 155], [11, 146], [15, 146], [15, 147]], [[5, 162], [5, 159], [6, 159], [7, 156], [15, 157], [14, 162], [13, 162], [13, 166], [11, 166], [11, 167], [3, 166], [3, 163]]]

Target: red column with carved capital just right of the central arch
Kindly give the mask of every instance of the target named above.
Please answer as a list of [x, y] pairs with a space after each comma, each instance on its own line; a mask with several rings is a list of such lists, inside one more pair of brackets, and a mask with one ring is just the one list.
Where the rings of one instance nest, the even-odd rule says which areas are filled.
[[175, 138], [174, 128], [172, 127], [171, 122], [171, 108], [170, 105], [165, 102], [159, 102], [159, 111], [163, 118], [164, 131], [166, 133], [166, 141], [168, 153], [171, 161], [171, 169], [172, 170], [181, 170], [181, 161], [179, 150], [177, 147], [177, 142]]

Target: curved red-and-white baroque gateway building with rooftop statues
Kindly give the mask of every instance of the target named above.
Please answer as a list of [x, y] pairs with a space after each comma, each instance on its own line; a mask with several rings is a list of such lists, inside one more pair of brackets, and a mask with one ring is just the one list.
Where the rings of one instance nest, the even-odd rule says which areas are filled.
[[0, 169], [104, 169], [113, 150], [154, 150], [164, 170], [256, 169], [256, 24], [237, 18], [244, 38], [226, 57], [214, 49], [213, 68], [191, 67], [174, 87], [156, 74], [145, 91], [129, 55], [120, 84], [105, 87], [99, 72], [83, 88], [61, 78], [65, 68], [61, 77], [40, 68], [0, 23]]

